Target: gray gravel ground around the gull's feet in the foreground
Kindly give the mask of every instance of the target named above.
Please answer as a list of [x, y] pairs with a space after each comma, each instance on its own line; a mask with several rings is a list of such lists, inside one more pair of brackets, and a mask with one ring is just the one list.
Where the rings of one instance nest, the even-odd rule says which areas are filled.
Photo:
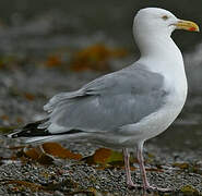
[[[91, 145], [63, 145], [73, 151], [82, 152], [82, 155], [91, 155], [95, 149], [95, 147], [92, 147]], [[155, 150], [157, 154], [152, 163], [151, 161], [150, 163], [146, 163], [146, 168], [156, 169], [156, 162], [161, 162], [162, 166], [162, 172], [147, 172], [151, 184], [159, 187], [174, 188], [171, 195], [183, 195], [185, 193], [180, 189], [188, 185], [193, 188], [193, 195], [200, 195], [200, 193], [202, 193], [202, 173], [194, 173], [188, 169], [175, 168], [173, 166], [173, 163], [176, 162], [174, 157], [165, 154], [153, 145], [148, 145], [147, 148]], [[146, 158], [146, 160], [148, 160], [148, 158]], [[190, 159], [189, 156], [187, 156], [186, 159], [178, 157], [177, 160], [177, 162], [189, 162], [190, 164], [193, 161], [195, 162], [197, 159], [193, 159], [193, 157]], [[202, 167], [200, 161], [198, 161], [198, 163]], [[201, 169], [200, 171], [202, 172]], [[139, 169], [132, 172], [132, 177], [136, 184], [141, 184]], [[15, 183], [7, 184], [7, 182], [16, 180], [34, 183], [35, 186], [40, 185], [43, 186], [43, 189], [37, 189], [35, 186], [32, 187], [28, 185], [22, 186]], [[123, 169], [98, 169], [97, 166], [87, 166], [82, 161], [70, 160], [56, 161], [54, 166], [49, 167], [36, 162], [8, 162], [0, 167], [0, 182], [1, 195], [19, 194], [48, 196], [142, 194], [141, 189], [129, 189], [126, 186], [126, 174]], [[163, 193], [156, 193], [156, 195], [163, 195]]]

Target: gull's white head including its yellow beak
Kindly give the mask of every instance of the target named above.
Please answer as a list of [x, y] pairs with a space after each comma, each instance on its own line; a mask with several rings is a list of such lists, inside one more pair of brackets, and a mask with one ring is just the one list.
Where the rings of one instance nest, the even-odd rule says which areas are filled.
[[133, 23], [133, 34], [139, 48], [157, 45], [170, 37], [175, 29], [199, 32], [199, 26], [190, 21], [177, 19], [173, 13], [159, 8], [146, 8], [138, 12]]

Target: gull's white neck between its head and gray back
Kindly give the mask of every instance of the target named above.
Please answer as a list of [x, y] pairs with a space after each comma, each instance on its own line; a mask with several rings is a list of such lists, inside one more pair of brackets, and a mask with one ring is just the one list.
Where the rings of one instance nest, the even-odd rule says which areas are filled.
[[140, 63], [150, 65], [147, 69], [162, 74], [168, 74], [168, 72], [182, 72], [185, 74], [181, 51], [169, 35], [144, 34], [134, 35], [134, 37], [141, 52]]

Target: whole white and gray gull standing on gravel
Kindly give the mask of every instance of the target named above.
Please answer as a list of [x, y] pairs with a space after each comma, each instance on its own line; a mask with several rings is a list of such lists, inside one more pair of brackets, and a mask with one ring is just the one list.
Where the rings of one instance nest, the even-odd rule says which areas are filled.
[[199, 26], [164, 9], [140, 10], [133, 22], [141, 52], [136, 62], [75, 91], [54, 96], [44, 106], [46, 119], [29, 123], [9, 137], [25, 137], [26, 143], [62, 139], [122, 149], [127, 184], [132, 187], [138, 185], [131, 179], [129, 150], [136, 149], [144, 191], [168, 191], [150, 185], [143, 144], [164, 132], [186, 101], [183, 59], [170, 37], [175, 29], [199, 32]]

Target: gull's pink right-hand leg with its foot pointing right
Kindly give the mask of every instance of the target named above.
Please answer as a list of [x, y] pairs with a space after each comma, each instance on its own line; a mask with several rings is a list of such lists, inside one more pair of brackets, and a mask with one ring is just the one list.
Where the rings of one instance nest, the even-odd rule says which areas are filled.
[[146, 177], [146, 170], [144, 168], [143, 143], [138, 145], [136, 158], [138, 158], [138, 161], [139, 161], [139, 164], [140, 164], [140, 171], [141, 171], [141, 175], [142, 175], [144, 191], [146, 191], [146, 189], [159, 191], [159, 192], [170, 192], [171, 191], [169, 188], [158, 188], [158, 187], [154, 187], [154, 186], [150, 185], [148, 180]]

